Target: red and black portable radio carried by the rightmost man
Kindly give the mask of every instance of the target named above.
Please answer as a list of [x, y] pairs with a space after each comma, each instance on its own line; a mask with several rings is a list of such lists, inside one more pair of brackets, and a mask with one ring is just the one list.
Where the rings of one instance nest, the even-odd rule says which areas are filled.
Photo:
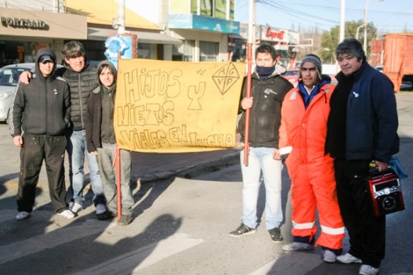
[[397, 174], [392, 170], [370, 172], [368, 180], [373, 214], [376, 217], [404, 210], [402, 188]]

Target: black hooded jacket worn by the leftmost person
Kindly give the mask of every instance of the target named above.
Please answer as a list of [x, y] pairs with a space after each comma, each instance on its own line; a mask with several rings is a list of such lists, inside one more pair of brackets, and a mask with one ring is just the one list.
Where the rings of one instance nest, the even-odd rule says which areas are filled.
[[11, 136], [21, 136], [22, 129], [35, 135], [60, 136], [70, 125], [70, 90], [62, 78], [43, 76], [39, 59], [43, 55], [55, 58], [52, 49], [39, 49], [35, 57], [35, 77], [28, 84], [18, 83], [11, 103]]

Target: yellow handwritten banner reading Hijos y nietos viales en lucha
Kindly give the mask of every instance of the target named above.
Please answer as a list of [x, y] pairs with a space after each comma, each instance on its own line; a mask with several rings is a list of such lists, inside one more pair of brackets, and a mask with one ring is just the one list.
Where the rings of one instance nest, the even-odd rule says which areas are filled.
[[245, 64], [120, 59], [118, 67], [120, 148], [182, 153], [235, 146]]

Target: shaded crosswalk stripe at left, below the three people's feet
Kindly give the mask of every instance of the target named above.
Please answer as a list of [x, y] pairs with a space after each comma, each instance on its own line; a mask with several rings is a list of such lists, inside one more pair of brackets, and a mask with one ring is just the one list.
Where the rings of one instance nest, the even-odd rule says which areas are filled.
[[38, 235], [19, 242], [13, 242], [9, 245], [3, 245], [0, 247], [0, 264], [56, 247], [57, 245], [72, 242], [73, 240], [84, 238], [88, 235], [103, 232], [107, 228], [115, 225], [116, 223], [110, 223], [108, 221], [87, 220], [78, 226], [69, 226], [44, 235]]

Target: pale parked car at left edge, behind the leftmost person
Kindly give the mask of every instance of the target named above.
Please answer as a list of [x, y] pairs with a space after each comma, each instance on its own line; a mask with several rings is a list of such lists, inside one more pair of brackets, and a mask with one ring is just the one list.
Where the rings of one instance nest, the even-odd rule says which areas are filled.
[[[62, 65], [57, 65], [61, 67]], [[9, 110], [18, 78], [23, 71], [33, 70], [35, 63], [18, 63], [0, 68], [0, 122], [9, 119]]]

